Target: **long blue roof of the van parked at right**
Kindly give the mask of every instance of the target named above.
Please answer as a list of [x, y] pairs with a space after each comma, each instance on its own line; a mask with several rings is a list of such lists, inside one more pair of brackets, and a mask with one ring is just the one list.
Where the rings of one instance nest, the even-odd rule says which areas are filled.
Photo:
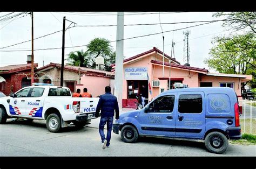
[[232, 89], [230, 87], [191, 87], [191, 88], [166, 90], [161, 94], [176, 93], [176, 92], [183, 92], [183, 91], [225, 91], [225, 92], [234, 92], [234, 89]]

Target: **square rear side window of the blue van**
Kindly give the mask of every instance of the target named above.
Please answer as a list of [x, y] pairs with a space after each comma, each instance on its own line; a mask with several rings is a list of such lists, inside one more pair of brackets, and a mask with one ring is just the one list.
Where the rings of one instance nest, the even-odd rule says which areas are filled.
[[179, 96], [179, 112], [200, 113], [202, 112], [202, 96], [200, 94], [187, 94]]

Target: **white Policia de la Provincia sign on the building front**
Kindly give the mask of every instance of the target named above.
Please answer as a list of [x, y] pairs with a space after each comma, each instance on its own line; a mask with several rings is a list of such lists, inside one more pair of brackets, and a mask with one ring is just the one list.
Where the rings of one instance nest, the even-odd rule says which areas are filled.
[[128, 67], [124, 70], [125, 79], [129, 80], [147, 80], [146, 67]]

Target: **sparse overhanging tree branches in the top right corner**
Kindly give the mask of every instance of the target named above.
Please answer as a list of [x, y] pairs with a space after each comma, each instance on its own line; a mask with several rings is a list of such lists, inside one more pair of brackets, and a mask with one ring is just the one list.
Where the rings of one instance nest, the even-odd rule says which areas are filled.
[[226, 17], [228, 20], [223, 23], [224, 27], [228, 26], [235, 30], [244, 30], [248, 27], [253, 33], [256, 33], [256, 12], [217, 12], [213, 16]]

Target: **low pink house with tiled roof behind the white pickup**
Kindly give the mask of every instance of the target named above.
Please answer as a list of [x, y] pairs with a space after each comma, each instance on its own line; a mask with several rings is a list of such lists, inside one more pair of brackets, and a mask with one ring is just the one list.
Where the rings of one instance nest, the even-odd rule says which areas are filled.
[[[37, 73], [43, 73], [39, 82], [50, 81], [55, 86], [60, 86], [61, 64], [50, 63], [37, 69]], [[64, 65], [63, 86], [69, 87], [71, 92], [76, 89], [87, 88], [93, 97], [105, 93], [105, 86], [113, 84], [114, 74], [97, 69]], [[112, 85], [113, 86], [113, 85]]]

